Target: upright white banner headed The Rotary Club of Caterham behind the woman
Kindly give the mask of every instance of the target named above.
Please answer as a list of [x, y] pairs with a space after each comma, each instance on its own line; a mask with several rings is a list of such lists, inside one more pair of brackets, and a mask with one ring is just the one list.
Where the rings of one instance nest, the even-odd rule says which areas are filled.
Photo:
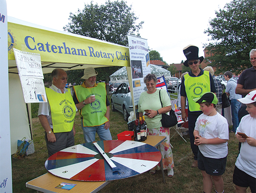
[[141, 92], [146, 91], [143, 79], [151, 73], [150, 56], [146, 39], [128, 35], [128, 42], [133, 83], [130, 88], [133, 89], [133, 104], [137, 106]]

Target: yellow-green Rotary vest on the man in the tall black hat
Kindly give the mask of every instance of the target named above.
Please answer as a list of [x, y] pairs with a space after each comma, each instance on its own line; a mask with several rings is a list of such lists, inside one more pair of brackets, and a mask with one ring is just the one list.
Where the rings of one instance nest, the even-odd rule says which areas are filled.
[[204, 92], [210, 92], [209, 71], [204, 71], [204, 74], [198, 77], [190, 77], [189, 74], [186, 74], [184, 79], [189, 111], [201, 111], [200, 105], [195, 103], [193, 99], [199, 98]]

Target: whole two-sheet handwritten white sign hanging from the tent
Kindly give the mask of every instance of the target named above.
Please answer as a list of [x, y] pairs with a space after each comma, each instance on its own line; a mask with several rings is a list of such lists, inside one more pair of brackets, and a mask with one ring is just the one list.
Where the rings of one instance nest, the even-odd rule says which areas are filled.
[[40, 54], [13, 49], [25, 103], [47, 102]]

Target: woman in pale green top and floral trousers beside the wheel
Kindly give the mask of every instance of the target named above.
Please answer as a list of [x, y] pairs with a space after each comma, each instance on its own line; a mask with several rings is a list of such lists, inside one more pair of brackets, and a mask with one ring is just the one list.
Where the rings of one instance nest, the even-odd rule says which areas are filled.
[[[143, 112], [149, 113], [149, 115], [145, 116], [148, 135], [160, 135], [166, 137], [166, 139], [160, 144], [160, 152], [162, 154], [163, 169], [167, 170], [168, 177], [172, 177], [174, 175], [174, 159], [170, 146], [170, 128], [164, 128], [161, 124], [161, 114], [167, 113], [172, 109], [170, 98], [166, 90], [156, 88], [157, 78], [155, 75], [148, 74], [144, 78], [144, 83], [146, 84], [147, 91], [140, 94], [138, 102], [139, 117], [142, 117]], [[159, 92], [161, 94], [163, 107], [160, 102]], [[161, 170], [160, 163], [156, 168], [153, 168], [150, 173], [155, 174], [156, 169]]]

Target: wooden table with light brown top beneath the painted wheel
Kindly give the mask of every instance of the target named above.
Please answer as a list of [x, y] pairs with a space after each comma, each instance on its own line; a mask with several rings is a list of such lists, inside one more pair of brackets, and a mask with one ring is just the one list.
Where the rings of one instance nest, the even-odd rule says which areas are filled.
[[[157, 135], [150, 135], [147, 136], [147, 140], [143, 141], [147, 144], [150, 144], [154, 147], [159, 147], [160, 143], [163, 142], [166, 139], [164, 136], [157, 136]], [[159, 149], [159, 148], [158, 148]], [[162, 168], [162, 174], [163, 174], [163, 165], [162, 165], [162, 159], [161, 159], [161, 168]], [[163, 179], [164, 174], [163, 174]], [[29, 182], [26, 183], [26, 187], [35, 189], [37, 191], [42, 192], [65, 192], [67, 193], [67, 190], [65, 189], [58, 189], [55, 188], [60, 183], [71, 183], [76, 184], [75, 187], [73, 187], [68, 192], [84, 192], [84, 193], [90, 193], [90, 192], [97, 192], [107, 184], [109, 184], [111, 181], [103, 181], [103, 182], [84, 182], [84, 181], [74, 181], [74, 180], [67, 180], [63, 178], [59, 178], [57, 176], [54, 176], [50, 173], [44, 174], [42, 176], [39, 176]]]

